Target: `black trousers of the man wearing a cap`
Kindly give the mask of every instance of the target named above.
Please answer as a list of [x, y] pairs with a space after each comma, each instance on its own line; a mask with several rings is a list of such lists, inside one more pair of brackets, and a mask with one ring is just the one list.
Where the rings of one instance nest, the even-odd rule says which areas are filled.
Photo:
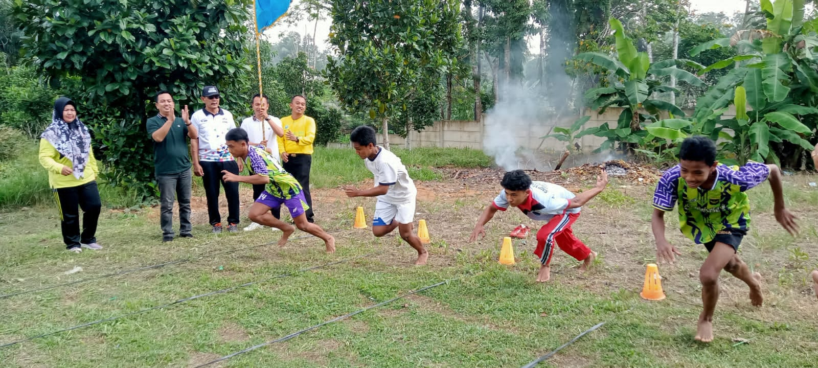
[[205, 186], [210, 225], [215, 226], [222, 222], [222, 213], [218, 211], [219, 183], [224, 187], [224, 196], [227, 197], [227, 222], [239, 223], [239, 183], [222, 180], [224, 176], [222, 170], [238, 175], [239, 164], [236, 164], [236, 161], [200, 161], [199, 164], [205, 172], [202, 183]]

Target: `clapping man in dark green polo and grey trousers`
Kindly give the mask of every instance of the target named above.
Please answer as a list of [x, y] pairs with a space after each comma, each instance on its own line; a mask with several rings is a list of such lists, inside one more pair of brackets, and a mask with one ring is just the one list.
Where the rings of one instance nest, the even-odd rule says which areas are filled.
[[162, 241], [173, 240], [173, 200], [179, 200], [179, 236], [192, 238], [191, 234], [191, 159], [187, 155], [187, 139], [199, 137], [196, 125], [191, 124], [187, 105], [182, 117], [173, 108], [173, 96], [168, 91], [156, 92], [156, 110], [159, 114], [148, 119], [148, 134], [154, 141], [154, 166], [156, 182], [159, 183]]

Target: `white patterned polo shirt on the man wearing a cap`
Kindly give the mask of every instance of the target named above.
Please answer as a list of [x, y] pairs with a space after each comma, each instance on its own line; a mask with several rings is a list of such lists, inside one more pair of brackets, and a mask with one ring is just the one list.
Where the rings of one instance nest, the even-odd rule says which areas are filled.
[[217, 114], [208, 110], [196, 110], [191, 116], [191, 123], [199, 131], [199, 160], [224, 162], [232, 161], [233, 156], [227, 150], [224, 137], [232, 128], [236, 128], [233, 114], [222, 108]]

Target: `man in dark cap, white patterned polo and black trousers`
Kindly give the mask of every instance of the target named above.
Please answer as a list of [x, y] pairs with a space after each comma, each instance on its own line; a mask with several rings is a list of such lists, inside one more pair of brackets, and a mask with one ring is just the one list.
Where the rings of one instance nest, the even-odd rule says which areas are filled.
[[239, 183], [225, 182], [222, 171], [238, 175], [244, 169], [244, 163], [236, 161], [227, 150], [224, 139], [227, 132], [236, 128], [233, 114], [219, 107], [221, 95], [215, 86], [206, 86], [202, 91], [202, 102], [205, 108], [196, 110], [191, 116], [191, 123], [196, 125], [198, 139], [191, 139], [191, 156], [193, 173], [202, 177], [207, 197], [207, 211], [213, 233], [222, 232], [222, 214], [218, 211], [219, 183], [224, 187], [227, 197], [227, 231], [236, 232], [239, 223]]

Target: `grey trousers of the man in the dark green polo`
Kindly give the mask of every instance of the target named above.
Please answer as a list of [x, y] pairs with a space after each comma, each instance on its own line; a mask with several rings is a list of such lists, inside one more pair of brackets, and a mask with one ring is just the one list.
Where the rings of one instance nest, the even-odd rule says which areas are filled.
[[156, 175], [159, 183], [162, 236], [173, 238], [173, 201], [179, 200], [179, 235], [190, 234], [191, 225], [191, 170], [168, 175]]

